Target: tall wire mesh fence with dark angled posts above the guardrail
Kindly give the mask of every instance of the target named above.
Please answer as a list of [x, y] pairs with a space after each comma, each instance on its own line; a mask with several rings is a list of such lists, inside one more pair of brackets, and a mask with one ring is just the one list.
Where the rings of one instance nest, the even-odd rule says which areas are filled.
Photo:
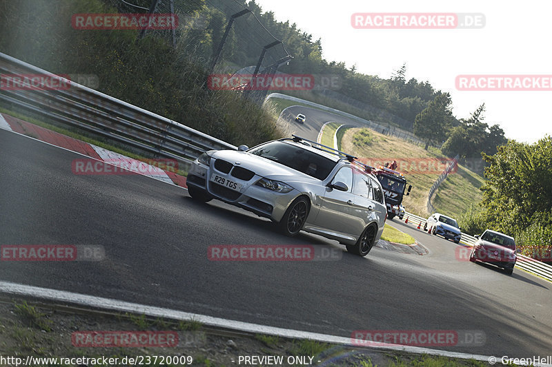
[[[178, 27], [172, 30], [140, 30], [139, 37], [159, 36], [178, 53], [201, 63], [211, 74], [248, 71], [253, 78], [273, 74], [293, 59], [284, 43], [271, 34], [249, 8], [236, 0], [103, 0], [120, 12], [176, 14]], [[249, 4], [255, 7], [255, 4]], [[262, 103], [266, 90], [244, 96]]]

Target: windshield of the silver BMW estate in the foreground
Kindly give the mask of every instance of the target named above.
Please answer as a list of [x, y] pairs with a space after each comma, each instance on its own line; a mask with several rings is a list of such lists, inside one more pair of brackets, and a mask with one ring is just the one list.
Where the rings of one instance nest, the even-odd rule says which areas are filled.
[[281, 165], [319, 180], [328, 177], [335, 162], [324, 156], [282, 141], [273, 141], [248, 150], [249, 153], [278, 162]]

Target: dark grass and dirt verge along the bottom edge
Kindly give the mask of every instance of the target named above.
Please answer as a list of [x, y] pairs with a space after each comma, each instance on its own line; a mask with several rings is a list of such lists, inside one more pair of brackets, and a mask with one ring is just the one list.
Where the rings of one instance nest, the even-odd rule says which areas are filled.
[[[44, 329], [29, 319], [40, 319], [50, 327]], [[192, 320], [194, 322], [194, 320]], [[0, 298], [0, 355], [57, 358], [33, 366], [69, 366], [73, 357], [97, 359], [88, 361], [89, 367], [103, 366], [101, 357], [119, 358], [143, 356], [152, 360], [151, 366], [159, 365], [160, 357], [191, 357], [193, 366], [233, 366], [240, 356], [281, 357], [282, 366], [489, 366], [473, 359], [436, 357], [383, 348], [362, 348], [317, 342], [312, 339], [290, 339], [274, 335], [250, 334], [228, 329], [219, 329], [195, 322], [194, 329], [181, 327], [182, 321], [153, 318], [146, 315], [120, 314], [88, 309], [72, 308], [59, 304], [27, 302]], [[183, 330], [186, 329], [186, 330]], [[75, 333], [94, 331], [168, 331], [177, 333], [178, 343], [172, 347], [152, 346], [75, 346]], [[122, 339], [121, 339], [122, 340]], [[153, 360], [157, 356], [157, 363]], [[301, 357], [302, 359], [298, 359]], [[63, 360], [61, 360], [63, 358]], [[146, 360], [144, 359], [144, 360]], [[24, 359], [23, 359], [24, 360]], [[189, 361], [189, 359], [188, 359]], [[244, 364], [244, 361], [242, 361]], [[122, 365], [119, 363], [119, 365]], [[130, 365], [130, 362], [129, 364]], [[181, 366], [182, 364], [164, 364]]]

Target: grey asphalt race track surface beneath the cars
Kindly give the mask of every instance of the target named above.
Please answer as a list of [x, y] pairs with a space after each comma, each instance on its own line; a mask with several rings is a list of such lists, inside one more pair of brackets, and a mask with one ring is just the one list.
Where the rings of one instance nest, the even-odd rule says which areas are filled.
[[[336, 117], [306, 116], [298, 130], [316, 131]], [[82, 156], [0, 130], [0, 244], [100, 244], [106, 259], [1, 261], [0, 280], [343, 337], [476, 330], [486, 335], [483, 346], [442, 349], [550, 353], [551, 283], [459, 260], [453, 242], [392, 220], [430, 253], [374, 248], [360, 258], [316, 235], [287, 238], [268, 220], [217, 200], [197, 203], [185, 189], [152, 178], [76, 176], [75, 158]], [[213, 262], [208, 247], [217, 244], [313, 244], [342, 258]]]

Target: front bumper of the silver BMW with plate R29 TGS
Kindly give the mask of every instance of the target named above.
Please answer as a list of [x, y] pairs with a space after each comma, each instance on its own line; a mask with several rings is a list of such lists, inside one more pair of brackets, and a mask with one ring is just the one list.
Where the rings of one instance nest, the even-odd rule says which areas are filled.
[[[213, 173], [228, 180], [232, 180], [233, 182], [238, 182], [242, 185], [242, 189], [240, 191], [235, 191], [210, 181], [210, 177]], [[299, 196], [299, 191], [296, 189], [288, 193], [279, 193], [255, 185], [255, 183], [262, 178], [257, 174], [249, 180], [241, 180], [232, 176], [232, 174], [233, 171], [226, 174], [215, 169], [214, 159], [211, 159], [209, 167], [196, 160], [190, 167], [186, 185], [204, 190], [214, 198], [252, 211], [258, 216], [269, 218], [275, 222], [279, 222], [279, 220], [282, 219], [290, 203]]]

